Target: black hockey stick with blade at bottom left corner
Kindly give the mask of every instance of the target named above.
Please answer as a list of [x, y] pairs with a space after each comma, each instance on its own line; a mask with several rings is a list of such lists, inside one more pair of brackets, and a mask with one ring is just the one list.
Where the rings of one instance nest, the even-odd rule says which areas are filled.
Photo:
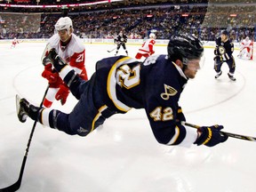
[[[47, 88], [46, 88], [46, 90], [44, 92], [44, 97], [43, 97], [43, 100], [42, 100], [42, 102], [40, 104], [40, 108], [42, 108], [42, 106], [43, 106], [44, 98], [45, 98], [48, 90], [49, 90], [49, 85], [47, 86]], [[29, 135], [27, 148], [26, 148], [25, 155], [23, 157], [23, 161], [22, 161], [21, 168], [20, 168], [19, 179], [15, 183], [13, 183], [11, 186], [9, 186], [7, 188], [0, 188], [0, 192], [13, 192], [13, 191], [17, 191], [20, 188], [23, 172], [24, 172], [24, 169], [25, 169], [25, 164], [26, 164], [26, 161], [27, 161], [28, 150], [29, 150], [29, 147], [30, 147], [30, 143], [31, 143], [33, 134], [35, 132], [36, 123], [37, 123], [37, 121], [34, 122], [32, 130], [31, 130], [30, 135]]]

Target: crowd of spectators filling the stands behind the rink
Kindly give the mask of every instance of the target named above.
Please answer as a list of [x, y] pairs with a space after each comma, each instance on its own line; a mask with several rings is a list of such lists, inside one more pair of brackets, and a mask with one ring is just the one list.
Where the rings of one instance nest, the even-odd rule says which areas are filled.
[[[147, 38], [153, 31], [157, 39], [169, 39], [174, 34], [187, 32], [213, 41], [223, 29], [228, 30], [236, 42], [245, 36], [255, 37], [256, 0], [126, 0], [84, 6], [60, 5], [93, 2], [96, 1], [5, 1], [6, 5], [0, 6], [0, 38], [49, 38], [63, 14], [73, 20], [74, 32], [81, 38], [113, 38], [122, 30], [129, 38]], [[33, 8], [27, 7], [28, 4], [59, 4], [60, 7]]]

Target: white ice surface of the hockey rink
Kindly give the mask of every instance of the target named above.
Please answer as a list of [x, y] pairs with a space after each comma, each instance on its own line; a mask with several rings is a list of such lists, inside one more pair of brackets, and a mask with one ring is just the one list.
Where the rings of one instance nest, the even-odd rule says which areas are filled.
[[[15, 94], [39, 105], [44, 43], [0, 44], [0, 188], [18, 180], [33, 121], [21, 124]], [[85, 44], [89, 76], [95, 62], [113, 56], [112, 45]], [[135, 56], [139, 46], [128, 46]], [[155, 47], [166, 53], [166, 47]], [[256, 136], [256, 62], [236, 58], [236, 82], [228, 67], [215, 80], [213, 50], [180, 98], [188, 123], [223, 124], [224, 131]], [[120, 50], [120, 53], [124, 51]], [[234, 53], [236, 57], [237, 52]], [[69, 95], [70, 111], [76, 99]], [[229, 138], [214, 148], [167, 147], [156, 142], [143, 110], [109, 118], [87, 137], [36, 125], [20, 192], [255, 192], [256, 143]]]

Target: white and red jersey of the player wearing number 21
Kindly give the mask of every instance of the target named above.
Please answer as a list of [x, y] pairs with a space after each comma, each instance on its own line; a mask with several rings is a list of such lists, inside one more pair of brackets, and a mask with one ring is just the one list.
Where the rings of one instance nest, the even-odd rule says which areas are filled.
[[62, 60], [68, 63], [77, 74], [81, 74], [84, 69], [85, 48], [81, 39], [72, 33], [71, 40], [66, 46], [62, 46], [60, 36], [53, 35], [49, 39], [49, 44], [56, 50]]

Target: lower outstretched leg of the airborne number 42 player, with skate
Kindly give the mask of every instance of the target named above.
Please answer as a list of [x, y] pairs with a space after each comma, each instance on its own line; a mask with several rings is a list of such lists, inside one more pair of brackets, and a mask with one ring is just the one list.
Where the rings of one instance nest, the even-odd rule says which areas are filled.
[[100, 94], [93, 94], [92, 86], [92, 84], [88, 84], [84, 87], [83, 97], [77, 102], [70, 114], [56, 109], [37, 108], [30, 104], [28, 100], [21, 99], [17, 109], [19, 120], [24, 123], [29, 116], [34, 121], [58, 129], [61, 132], [86, 136], [100, 124], [103, 124], [109, 116], [116, 114], [115, 111], [110, 110], [102, 103]]

